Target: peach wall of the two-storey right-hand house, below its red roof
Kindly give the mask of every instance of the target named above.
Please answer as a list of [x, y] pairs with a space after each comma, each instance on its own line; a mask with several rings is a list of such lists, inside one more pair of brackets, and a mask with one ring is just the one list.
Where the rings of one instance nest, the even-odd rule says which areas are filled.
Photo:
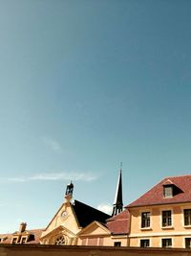
[[[162, 238], [172, 238], [172, 247], [184, 247], [184, 239], [191, 237], [191, 226], [184, 226], [183, 209], [191, 209], [191, 204], [159, 205], [130, 209], [130, 246], [139, 246], [140, 239], [150, 239], [150, 246], [161, 247]], [[172, 227], [162, 227], [161, 212], [172, 211]], [[141, 213], [151, 212], [150, 228], [141, 228]]]

